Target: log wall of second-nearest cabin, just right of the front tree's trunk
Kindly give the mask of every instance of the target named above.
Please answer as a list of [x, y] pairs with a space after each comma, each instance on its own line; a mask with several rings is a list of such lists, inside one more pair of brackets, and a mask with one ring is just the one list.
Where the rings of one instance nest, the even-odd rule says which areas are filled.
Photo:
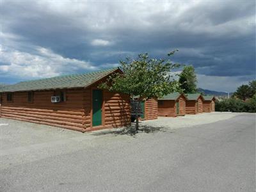
[[145, 118], [143, 120], [157, 119], [157, 99], [147, 99], [145, 101]]

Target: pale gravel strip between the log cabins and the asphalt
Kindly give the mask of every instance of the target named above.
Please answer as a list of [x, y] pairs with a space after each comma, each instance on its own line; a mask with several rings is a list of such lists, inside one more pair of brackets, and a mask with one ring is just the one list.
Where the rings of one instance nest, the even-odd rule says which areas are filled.
[[[147, 134], [147, 132], [210, 124], [237, 115], [239, 113], [214, 112], [177, 118], [159, 117], [157, 120], [140, 122], [140, 129], [143, 131], [136, 134], [136, 137], [143, 137], [143, 134]], [[0, 118], [0, 129], [0, 170], [17, 164], [81, 150], [88, 145], [94, 145], [100, 138], [100, 140], [109, 140], [113, 135], [119, 136], [120, 139], [129, 137], [125, 128], [81, 133], [5, 118]]]

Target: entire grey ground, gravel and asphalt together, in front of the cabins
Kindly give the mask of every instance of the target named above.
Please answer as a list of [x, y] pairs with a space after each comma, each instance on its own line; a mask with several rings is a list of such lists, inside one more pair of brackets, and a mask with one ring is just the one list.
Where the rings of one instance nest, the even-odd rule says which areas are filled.
[[255, 114], [76, 132], [0, 118], [0, 191], [253, 191]]

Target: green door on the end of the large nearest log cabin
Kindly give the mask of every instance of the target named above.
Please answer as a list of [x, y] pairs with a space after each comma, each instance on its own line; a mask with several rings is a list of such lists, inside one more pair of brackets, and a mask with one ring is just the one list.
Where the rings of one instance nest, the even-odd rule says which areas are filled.
[[102, 90], [92, 90], [92, 125], [102, 124]]

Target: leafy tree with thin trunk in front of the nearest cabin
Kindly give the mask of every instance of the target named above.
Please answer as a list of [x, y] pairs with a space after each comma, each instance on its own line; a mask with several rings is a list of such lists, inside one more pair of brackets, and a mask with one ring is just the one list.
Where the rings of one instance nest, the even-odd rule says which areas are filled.
[[[172, 56], [175, 51], [168, 53], [168, 56]], [[120, 61], [122, 73], [109, 76], [99, 87], [138, 97], [136, 108], [136, 131], [138, 131], [138, 109], [141, 101], [163, 97], [177, 91], [179, 84], [173, 80], [170, 71], [179, 66], [179, 63], [172, 63], [170, 60], [150, 58], [147, 53], [139, 54], [135, 60], [127, 58], [126, 61]]]

